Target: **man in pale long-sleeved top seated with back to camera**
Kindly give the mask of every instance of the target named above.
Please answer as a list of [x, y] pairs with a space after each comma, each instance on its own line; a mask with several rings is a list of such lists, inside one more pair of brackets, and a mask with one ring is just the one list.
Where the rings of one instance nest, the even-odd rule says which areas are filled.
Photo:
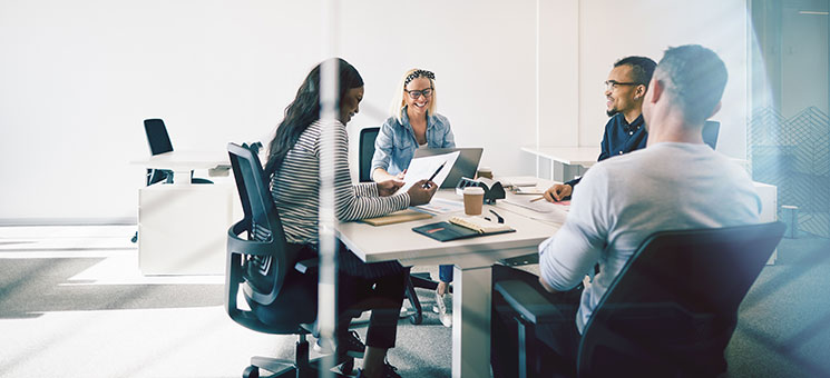
[[[592, 314], [650, 235], [759, 222], [761, 199], [750, 176], [703, 142], [703, 126], [721, 109], [728, 78], [726, 66], [714, 51], [696, 44], [668, 48], [642, 99], [647, 147], [588, 170], [574, 195], [567, 221], [539, 245], [538, 277], [507, 266], [492, 267], [494, 285], [521, 280], [548, 301], [538, 308], [555, 309], [547, 315], [553, 319], [549, 325], [528, 327], [545, 370], [531, 374], [549, 377], [554, 371], [547, 370], [557, 370], [576, 376], [578, 347], [583, 332], [592, 327]], [[583, 289], [585, 275], [596, 263], [600, 272]], [[492, 294], [492, 309], [494, 376], [515, 377], [519, 364], [515, 319], [519, 315], [499, 291]], [[689, 362], [681, 364], [675, 376], [721, 376], [726, 369], [723, 350], [732, 330], [706, 331], [706, 345], [668, 351], [647, 350], [633, 342], [639, 349], [632, 356], [670, 365]], [[680, 356], [689, 359], [678, 361]], [[617, 376], [635, 372], [618, 371]]]

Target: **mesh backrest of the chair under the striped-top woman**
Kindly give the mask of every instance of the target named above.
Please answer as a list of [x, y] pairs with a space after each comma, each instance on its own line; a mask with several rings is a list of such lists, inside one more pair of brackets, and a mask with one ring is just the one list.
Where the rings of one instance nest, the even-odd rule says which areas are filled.
[[[247, 147], [235, 143], [228, 143], [227, 151], [245, 215], [228, 232], [228, 260], [233, 252], [247, 257], [238, 263], [228, 261], [227, 277], [232, 276], [231, 269], [242, 263], [238, 279], [247, 284], [245, 294], [255, 302], [268, 306], [280, 295], [285, 276], [293, 269], [295, 250], [289, 248], [285, 240], [260, 158]], [[245, 231], [247, 240], [235, 238]]]

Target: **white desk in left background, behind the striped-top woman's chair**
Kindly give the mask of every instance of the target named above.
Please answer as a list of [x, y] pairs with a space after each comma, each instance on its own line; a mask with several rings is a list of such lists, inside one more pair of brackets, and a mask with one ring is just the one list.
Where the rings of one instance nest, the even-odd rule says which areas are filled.
[[233, 176], [191, 185], [191, 171], [230, 167], [227, 152], [172, 151], [133, 163], [174, 171], [173, 185], [138, 190], [141, 273], [224, 273], [227, 228], [242, 218]]

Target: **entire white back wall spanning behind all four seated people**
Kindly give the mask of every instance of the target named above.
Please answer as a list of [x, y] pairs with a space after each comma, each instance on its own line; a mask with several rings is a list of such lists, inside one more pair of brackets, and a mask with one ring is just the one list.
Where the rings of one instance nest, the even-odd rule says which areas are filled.
[[[702, 43], [730, 69], [720, 147], [743, 156], [743, 0], [340, 2], [340, 56], [362, 73], [378, 126], [402, 72], [433, 70], [459, 146], [497, 175], [531, 175], [521, 146], [595, 146], [602, 82], [626, 54]], [[322, 60], [319, 1], [0, 2], [0, 223], [135, 221], [148, 155], [141, 120], [176, 149], [268, 136]], [[353, 159], [357, 163], [357, 160]], [[357, 167], [357, 165], [355, 165]], [[357, 168], [355, 168], [357, 169]], [[357, 173], [357, 172], [353, 172]]]

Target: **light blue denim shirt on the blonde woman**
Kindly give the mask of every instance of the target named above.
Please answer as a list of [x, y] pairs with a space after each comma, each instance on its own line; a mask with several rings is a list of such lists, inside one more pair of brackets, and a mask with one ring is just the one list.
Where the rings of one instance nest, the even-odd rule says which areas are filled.
[[[409, 167], [409, 161], [412, 160], [414, 150], [419, 146], [412, 126], [409, 125], [407, 107], [401, 110], [401, 120], [403, 125], [394, 117], [390, 117], [381, 126], [378, 139], [374, 140], [372, 172], [378, 168], [383, 168], [390, 175], [398, 175]], [[456, 138], [452, 136], [447, 117], [427, 113], [427, 147], [456, 147]]]

